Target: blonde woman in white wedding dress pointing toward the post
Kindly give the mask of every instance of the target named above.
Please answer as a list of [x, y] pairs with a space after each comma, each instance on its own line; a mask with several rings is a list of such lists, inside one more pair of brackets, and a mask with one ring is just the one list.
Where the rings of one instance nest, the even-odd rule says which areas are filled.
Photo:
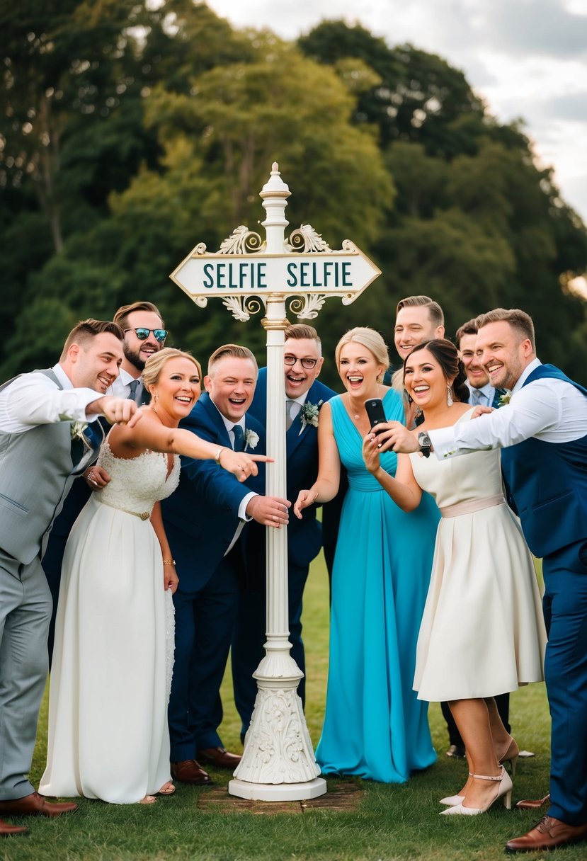
[[[98, 463], [110, 475], [71, 530], [63, 561], [40, 793], [114, 804], [170, 795], [167, 701], [177, 587], [159, 501], [179, 480], [179, 457], [214, 458], [244, 480], [254, 461], [179, 429], [200, 396], [193, 356], [165, 348], [143, 372], [151, 405], [116, 425]], [[197, 553], [197, 548], [194, 548]]]

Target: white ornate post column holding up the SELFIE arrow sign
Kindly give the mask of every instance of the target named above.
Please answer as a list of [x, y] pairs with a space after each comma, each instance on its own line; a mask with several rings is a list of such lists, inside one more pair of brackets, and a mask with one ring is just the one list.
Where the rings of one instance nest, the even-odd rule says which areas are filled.
[[[285, 208], [290, 191], [274, 162], [261, 191], [267, 218], [266, 254], [286, 254]], [[280, 285], [281, 287], [281, 285]], [[267, 316], [267, 466], [266, 492], [287, 495], [283, 332], [288, 325], [285, 294], [266, 300]], [[290, 517], [293, 517], [290, 509]], [[228, 784], [233, 796], [261, 801], [299, 801], [321, 796], [326, 782], [318, 777], [312, 741], [297, 687], [303, 673], [290, 656], [287, 611], [287, 528], [267, 529], [267, 641], [265, 657], [254, 673], [255, 710], [244, 740], [243, 759]]]

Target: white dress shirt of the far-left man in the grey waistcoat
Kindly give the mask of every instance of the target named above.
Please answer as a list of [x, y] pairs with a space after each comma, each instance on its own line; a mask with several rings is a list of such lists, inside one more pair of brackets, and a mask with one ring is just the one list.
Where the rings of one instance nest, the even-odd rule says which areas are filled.
[[63, 389], [45, 374], [23, 374], [0, 392], [0, 431], [23, 433], [38, 424], [90, 422], [86, 407], [103, 395], [93, 388], [74, 388], [61, 365], [53, 366]]

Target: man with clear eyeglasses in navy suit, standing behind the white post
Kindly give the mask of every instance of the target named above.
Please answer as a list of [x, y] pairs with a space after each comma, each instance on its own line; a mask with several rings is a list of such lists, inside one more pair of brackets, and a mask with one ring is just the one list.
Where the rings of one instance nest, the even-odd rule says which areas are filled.
[[[324, 359], [318, 332], [310, 325], [290, 325], [285, 331], [284, 371], [286, 402], [287, 499], [297, 499], [303, 487], [311, 487], [318, 475], [318, 415], [324, 401], [336, 392], [317, 377]], [[267, 420], [267, 370], [259, 372], [250, 414], [263, 425]], [[334, 500], [333, 500], [334, 501]], [[327, 508], [328, 506], [326, 506]], [[338, 512], [334, 513], [337, 518]], [[324, 509], [325, 514], [325, 509]], [[322, 546], [322, 529], [316, 508], [304, 511], [299, 520], [292, 518], [287, 528], [287, 588], [289, 639], [292, 657], [306, 672], [304, 643], [301, 638], [301, 612], [304, 586], [310, 562]], [[265, 538], [264, 530], [253, 523], [247, 537], [248, 579], [242, 584], [238, 626], [232, 646], [234, 698], [242, 718], [242, 735], [249, 728], [256, 697], [253, 672], [262, 660], [265, 641]], [[298, 692], [304, 701], [305, 679]]]

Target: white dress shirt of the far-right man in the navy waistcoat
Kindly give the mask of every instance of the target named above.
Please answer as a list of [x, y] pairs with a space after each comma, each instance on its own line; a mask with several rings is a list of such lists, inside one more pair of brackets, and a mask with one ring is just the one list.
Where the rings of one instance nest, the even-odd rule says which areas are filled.
[[[545, 377], [523, 386], [541, 362], [534, 359], [512, 389], [510, 403], [470, 422], [429, 431], [434, 454], [465, 455], [479, 449], [504, 449], [530, 437], [545, 443], [570, 443], [587, 432], [587, 398], [571, 383]], [[522, 388], [523, 386], [523, 388]]]

